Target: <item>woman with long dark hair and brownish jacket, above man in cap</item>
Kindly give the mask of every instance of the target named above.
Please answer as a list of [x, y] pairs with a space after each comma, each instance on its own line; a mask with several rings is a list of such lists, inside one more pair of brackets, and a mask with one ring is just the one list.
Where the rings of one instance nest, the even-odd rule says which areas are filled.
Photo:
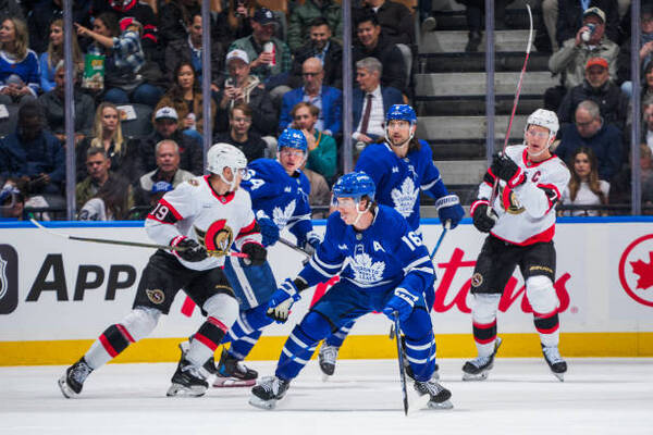
[[[201, 83], [195, 77], [193, 64], [182, 61], [174, 70], [174, 84], [159, 100], [157, 110], [173, 108], [180, 117], [178, 130], [202, 141], [204, 133], [204, 98], [201, 95]], [[211, 99], [210, 120], [215, 116], [215, 102]], [[212, 125], [211, 125], [212, 129]]]

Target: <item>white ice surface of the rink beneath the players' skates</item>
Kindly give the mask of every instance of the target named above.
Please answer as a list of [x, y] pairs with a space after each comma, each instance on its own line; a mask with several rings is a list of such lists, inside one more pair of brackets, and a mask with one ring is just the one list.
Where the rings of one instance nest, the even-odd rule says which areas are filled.
[[109, 364], [73, 400], [63, 366], [0, 368], [0, 434], [653, 434], [653, 359], [569, 359], [564, 383], [542, 359], [497, 359], [488, 381], [461, 382], [463, 362], [439, 360], [454, 409], [407, 418], [394, 360], [338, 361], [328, 383], [311, 361], [274, 411], [249, 406], [249, 388], [167, 398], [172, 363]]

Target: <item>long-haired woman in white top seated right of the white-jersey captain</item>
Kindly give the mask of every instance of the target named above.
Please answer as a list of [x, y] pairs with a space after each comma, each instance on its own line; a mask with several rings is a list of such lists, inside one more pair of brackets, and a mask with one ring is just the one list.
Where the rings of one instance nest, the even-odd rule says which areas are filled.
[[[580, 147], [568, 162], [571, 172], [569, 185], [563, 191], [563, 206], [606, 206], [609, 183], [599, 179], [596, 156], [591, 148]], [[571, 210], [560, 213], [564, 216], [607, 215], [599, 210]]]

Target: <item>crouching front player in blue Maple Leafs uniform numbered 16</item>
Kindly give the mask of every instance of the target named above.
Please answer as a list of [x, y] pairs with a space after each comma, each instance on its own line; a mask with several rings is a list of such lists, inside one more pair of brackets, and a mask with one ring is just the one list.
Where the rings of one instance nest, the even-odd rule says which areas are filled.
[[269, 302], [269, 315], [285, 322], [300, 293], [340, 274], [336, 283], [295, 326], [274, 376], [251, 389], [249, 403], [272, 409], [310, 360], [320, 340], [372, 311], [399, 316], [417, 394], [430, 408], [451, 408], [451, 391], [432, 380], [435, 343], [424, 294], [434, 271], [421, 238], [394, 209], [374, 202], [375, 185], [365, 173], [343, 175], [333, 186], [336, 211], [324, 240], [295, 279], [286, 279]]

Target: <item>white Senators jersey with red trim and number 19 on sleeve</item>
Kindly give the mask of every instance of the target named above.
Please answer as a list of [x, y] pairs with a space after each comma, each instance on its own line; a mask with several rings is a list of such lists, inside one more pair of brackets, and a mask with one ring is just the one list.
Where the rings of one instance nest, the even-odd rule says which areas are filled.
[[165, 194], [147, 215], [145, 229], [161, 245], [188, 237], [212, 251], [207, 259], [197, 262], [175, 256], [184, 266], [196, 271], [223, 265], [224, 256], [234, 243], [237, 249], [245, 243], [261, 243], [247, 190], [218, 195], [208, 175], [190, 178]]

